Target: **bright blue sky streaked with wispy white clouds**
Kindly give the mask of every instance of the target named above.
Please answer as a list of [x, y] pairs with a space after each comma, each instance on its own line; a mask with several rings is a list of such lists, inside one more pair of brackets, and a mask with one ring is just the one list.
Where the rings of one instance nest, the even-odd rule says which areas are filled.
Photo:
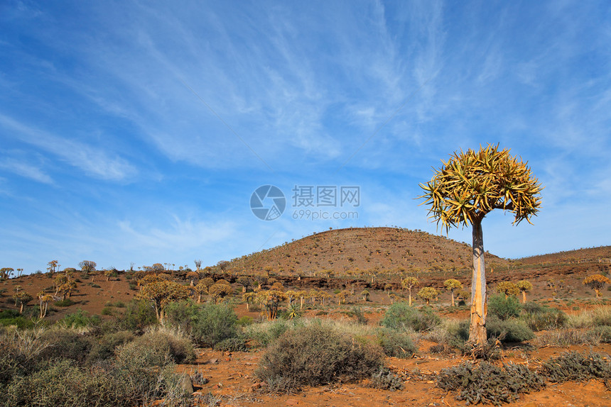
[[[610, 245], [609, 44], [607, 1], [3, 1], [0, 266], [438, 233], [418, 183], [486, 143], [546, 186], [534, 226], [488, 216], [487, 250]], [[286, 195], [274, 221], [249, 206], [266, 184]], [[359, 186], [358, 218], [293, 219], [294, 186]]]

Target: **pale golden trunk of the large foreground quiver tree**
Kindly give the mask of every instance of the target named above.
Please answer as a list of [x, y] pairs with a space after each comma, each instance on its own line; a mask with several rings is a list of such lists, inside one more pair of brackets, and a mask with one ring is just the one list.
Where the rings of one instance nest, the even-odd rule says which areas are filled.
[[486, 272], [484, 264], [484, 238], [482, 221], [473, 223], [473, 275], [471, 281], [471, 325], [469, 342], [483, 345], [486, 342]]

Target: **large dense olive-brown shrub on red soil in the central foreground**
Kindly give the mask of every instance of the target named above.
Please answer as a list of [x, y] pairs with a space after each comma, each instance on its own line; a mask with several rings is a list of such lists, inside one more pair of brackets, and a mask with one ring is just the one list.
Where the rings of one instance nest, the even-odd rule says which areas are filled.
[[328, 326], [312, 324], [288, 330], [271, 343], [255, 374], [274, 391], [293, 391], [339, 379], [362, 379], [380, 367], [379, 348], [355, 344]]

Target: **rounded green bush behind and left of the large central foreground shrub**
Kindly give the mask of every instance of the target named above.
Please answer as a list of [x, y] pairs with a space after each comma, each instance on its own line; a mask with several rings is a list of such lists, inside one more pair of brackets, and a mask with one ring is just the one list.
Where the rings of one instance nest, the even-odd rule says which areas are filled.
[[237, 316], [224, 304], [208, 303], [197, 307], [191, 324], [191, 334], [202, 346], [215, 347], [218, 342], [238, 335]]

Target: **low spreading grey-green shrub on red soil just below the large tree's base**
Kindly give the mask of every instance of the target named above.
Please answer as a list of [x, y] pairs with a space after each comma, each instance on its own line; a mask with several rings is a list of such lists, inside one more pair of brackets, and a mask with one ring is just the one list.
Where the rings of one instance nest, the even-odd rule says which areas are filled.
[[458, 391], [456, 398], [468, 404], [511, 403], [519, 394], [543, 389], [545, 381], [524, 365], [504, 364], [497, 367], [482, 362], [478, 367], [470, 363], [442, 369], [437, 385], [446, 391]]

